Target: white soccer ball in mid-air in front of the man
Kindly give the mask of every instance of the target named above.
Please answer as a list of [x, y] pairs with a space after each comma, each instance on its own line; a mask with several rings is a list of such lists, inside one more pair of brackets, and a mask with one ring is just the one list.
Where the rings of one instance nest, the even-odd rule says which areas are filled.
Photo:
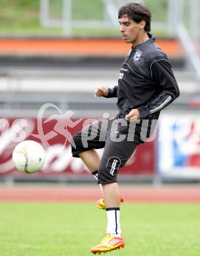
[[14, 148], [12, 161], [21, 173], [36, 173], [44, 165], [45, 150], [33, 140], [24, 140]]

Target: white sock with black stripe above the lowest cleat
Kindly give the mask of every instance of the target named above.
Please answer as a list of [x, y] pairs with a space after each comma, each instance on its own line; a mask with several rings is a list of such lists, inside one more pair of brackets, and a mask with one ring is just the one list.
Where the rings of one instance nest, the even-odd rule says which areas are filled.
[[106, 208], [106, 215], [108, 219], [106, 233], [112, 234], [113, 236], [121, 236], [119, 213], [119, 207]]

